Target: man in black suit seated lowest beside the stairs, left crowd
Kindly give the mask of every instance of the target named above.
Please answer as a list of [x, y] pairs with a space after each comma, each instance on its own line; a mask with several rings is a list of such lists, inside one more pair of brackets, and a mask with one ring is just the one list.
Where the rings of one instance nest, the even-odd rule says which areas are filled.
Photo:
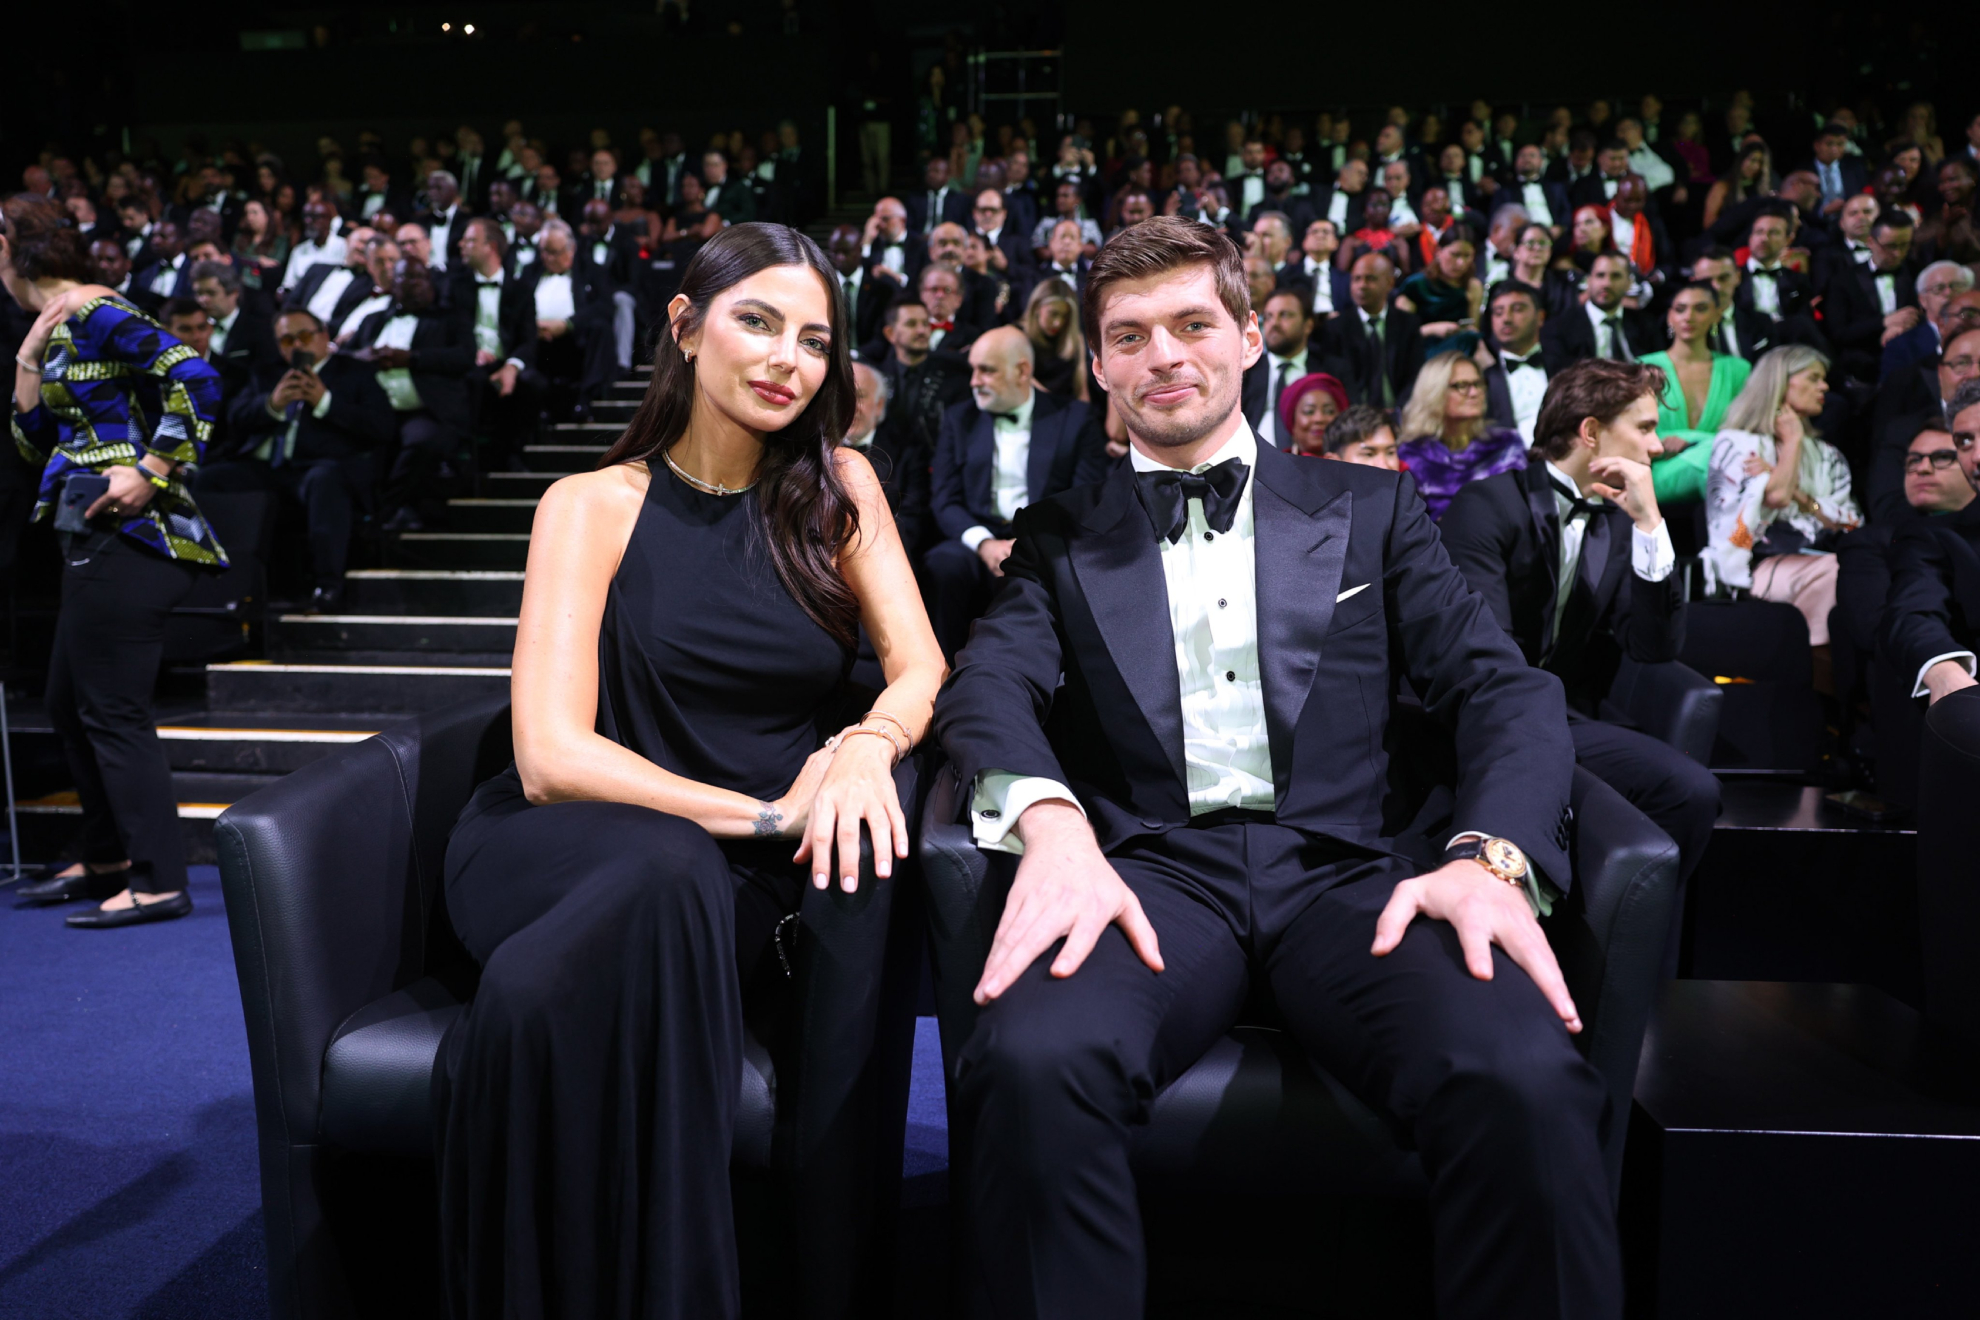
[[[200, 491], [275, 491], [299, 505], [309, 528], [311, 612], [345, 598], [352, 509], [366, 499], [376, 455], [398, 422], [368, 362], [331, 350], [315, 313], [293, 307], [275, 319], [283, 360], [263, 366], [255, 386], [228, 410], [236, 451], [200, 467]], [[291, 366], [295, 354], [307, 366]]]

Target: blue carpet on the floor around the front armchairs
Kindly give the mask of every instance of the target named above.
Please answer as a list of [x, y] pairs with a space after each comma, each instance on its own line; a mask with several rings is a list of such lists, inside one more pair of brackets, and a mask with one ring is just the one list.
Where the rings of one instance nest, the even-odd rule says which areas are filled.
[[[192, 916], [69, 930], [0, 889], [0, 1320], [267, 1316], [253, 1084], [220, 871]], [[935, 1019], [915, 1031], [907, 1203], [946, 1191]]]

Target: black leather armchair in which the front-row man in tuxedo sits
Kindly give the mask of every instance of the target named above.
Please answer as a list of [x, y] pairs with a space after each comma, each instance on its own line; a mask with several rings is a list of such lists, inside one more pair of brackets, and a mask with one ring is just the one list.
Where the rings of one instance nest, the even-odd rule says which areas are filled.
[[[1677, 845], [1586, 770], [1574, 772], [1574, 885], [1546, 936], [1582, 1009], [1576, 1045], [1608, 1081], [1614, 1120], [1604, 1156], [1622, 1187], [1624, 1134], [1643, 1029], [1677, 895]], [[923, 817], [935, 993], [942, 1059], [976, 1021], [970, 991], [996, 934], [1018, 859], [978, 851], [954, 770], [942, 768]], [[952, 1079], [950, 1079], [952, 1081]], [[950, 1110], [950, 1203], [966, 1205], [970, 1134]], [[1137, 1178], [1150, 1187], [1249, 1195], [1424, 1195], [1418, 1158], [1283, 1031], [1238, 1025], [1154, 1100], [1135, 1134]]]

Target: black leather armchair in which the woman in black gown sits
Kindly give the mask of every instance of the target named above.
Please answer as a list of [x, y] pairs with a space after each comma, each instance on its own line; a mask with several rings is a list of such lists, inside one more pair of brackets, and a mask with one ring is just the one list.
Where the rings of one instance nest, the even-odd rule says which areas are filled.
[[[275, 1320], [438, 1314], [432, 1075], [477, 980], [446, 918], [442, 857], [475, 784], [509, 758], [507, 701], [463, 703], [216, 825]], [[798, 1294], [784, 1314], [873, 1314], [891, 1274], [921, 914], [911, 877], [871, 883], [865, 861], [855, 895], [806, 889], [790, 993], [750, 1017], [744, 1043], [733, 1166], [768, 1172], [774, 1247], [758, 1255], [776, 1261], [760, 1286]], [[847, 974], [875, 966], [885, 976]]]

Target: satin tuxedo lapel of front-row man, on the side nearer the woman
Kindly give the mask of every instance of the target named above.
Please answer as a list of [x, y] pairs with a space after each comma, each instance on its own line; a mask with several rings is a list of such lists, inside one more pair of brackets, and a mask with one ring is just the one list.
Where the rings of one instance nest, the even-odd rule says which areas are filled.
[[[1127, 683], [1156, 742], [1168, 754], [1176, 784], [1188, 792], [1182, 762], [1182, 677], [1176, 671], [1176, 635], [1168, 623], [1168, 580], [1154, 526], [1135, 497], [1135, 473], [1123, 463], [1071, 538], [1067, 556], [1079, 592], [1107, 641], [1121, 681]], [[1333, 598], [1329, 598], [1331, 602]]]

